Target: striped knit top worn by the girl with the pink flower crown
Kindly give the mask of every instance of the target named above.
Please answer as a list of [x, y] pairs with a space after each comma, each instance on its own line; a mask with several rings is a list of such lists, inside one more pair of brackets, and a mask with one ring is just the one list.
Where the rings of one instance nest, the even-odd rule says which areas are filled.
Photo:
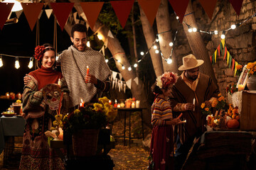
[[151, 106], [151, 123], [152, 125], [165, 125], [166, 120], [173, 118], [169, 98], [156, 97]]

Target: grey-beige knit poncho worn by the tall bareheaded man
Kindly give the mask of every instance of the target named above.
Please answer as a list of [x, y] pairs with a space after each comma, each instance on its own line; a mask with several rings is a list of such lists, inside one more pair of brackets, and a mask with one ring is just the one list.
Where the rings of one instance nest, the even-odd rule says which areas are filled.
[[97, 93], [94, 84], [85, 83], [87, 66], [90, 69], [89, 73], [100, 81], [105, 81], [111, 75], [105, 57], [89, 47], [85, 52], [80, 52], [71, 45], [60, 55], [60, 62], [63, 77], [70, 91], [70, 107], [79, 105], [80, 98], [82, 101], [90, 102]]

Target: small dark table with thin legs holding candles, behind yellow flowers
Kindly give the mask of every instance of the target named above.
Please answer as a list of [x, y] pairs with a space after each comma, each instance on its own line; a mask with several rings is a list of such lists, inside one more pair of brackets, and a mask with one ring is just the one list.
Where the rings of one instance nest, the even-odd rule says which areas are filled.
[[142, 118], [142, 139], [144, 140], [144, 125], [143, 125], [143, 114], [142, 114], [142, 110], [146, 109], [146, 108], [117, 108], [118, 114], [122, 114], [124, 113], [124, 135], [122, 137], [124, 137], [124, 146], [125, 146], [125, 129], [126, 129], [126, 114], [129, 114], [129, 147], [131, 145], [131, 139], [137, 139], [138, 137], [131, 137], [131, 114], [134, 112], [139, 112], [141, 113], [141, 118]]

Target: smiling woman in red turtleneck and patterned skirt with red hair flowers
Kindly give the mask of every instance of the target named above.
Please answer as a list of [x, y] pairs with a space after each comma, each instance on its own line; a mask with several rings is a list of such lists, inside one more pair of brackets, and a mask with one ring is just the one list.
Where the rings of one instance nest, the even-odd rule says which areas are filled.
[[[38, 45], [35, 58], [38, 60], [38, 69], [28, 74], [30, 81], [23, 91], [23, 117], [26, 125], [19, 169], [65, 169], [58, 154], [50, 149], [45, 135], [55, 120], [56, 111], [51, 109], [51, 103], [43, 97], [43, 89], [48, 84], [58, 84], [60, 79], [60, 89], [63, 92], [61, 113], [65, 114], [68, 111], [68, 87], [62, 74], [53, 70], [55, 49], [51, 45]], [[50, 92], [48, 95], [50, 99], [57, 94], [54, 91], [53, 95]]]

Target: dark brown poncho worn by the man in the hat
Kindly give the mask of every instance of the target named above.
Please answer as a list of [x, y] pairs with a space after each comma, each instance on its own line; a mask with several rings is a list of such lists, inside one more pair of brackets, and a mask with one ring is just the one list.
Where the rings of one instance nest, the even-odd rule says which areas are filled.
[[[193, 98], [198, 98], [195, 111], [182, 112], [181, 118], [186, 120], [186, 123], [178, 125], [178, 135], [181, 137], [181, 142], [191, 140], [191, 138], [200, 136], [203, 133], [204, 125], [206, 125], [206, 115], [201, 113], [201, 103], [210, 100], [212, 97], [217, 98], [218, 94], [218, 86], [206, 74], [200, 73], [196, 91], [193, 91], [181, 77], [178, 77], [170, 96], [171, 108], [174, 108], [177, 103], [193, 103]], [[176, 116], [180, 114], [175, 114], [174, 111], [173, 113]]]

